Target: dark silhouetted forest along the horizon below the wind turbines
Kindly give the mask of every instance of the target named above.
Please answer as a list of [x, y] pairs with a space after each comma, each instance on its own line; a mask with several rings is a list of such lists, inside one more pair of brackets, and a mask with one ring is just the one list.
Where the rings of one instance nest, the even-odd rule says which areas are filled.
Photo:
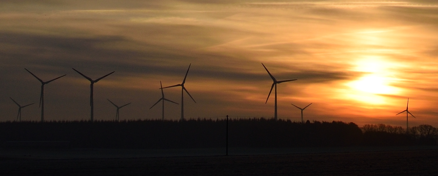
[[[290, 148], [436, 145], [438, 130], [341, 121], [232, 119], [229, 147]], [[221, 148], [226, 146], [226, 120], [128, 120], [2, 122], [0, 144], [7, 141], [70, 141], [72, 148]]]

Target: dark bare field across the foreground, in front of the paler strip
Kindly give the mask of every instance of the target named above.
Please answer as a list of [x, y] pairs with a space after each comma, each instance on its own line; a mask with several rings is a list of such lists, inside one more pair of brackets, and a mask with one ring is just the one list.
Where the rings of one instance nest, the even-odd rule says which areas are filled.
[[427, 176], [437, 174], [438, 149], [88, 159], [0, 156], [0, 175]]

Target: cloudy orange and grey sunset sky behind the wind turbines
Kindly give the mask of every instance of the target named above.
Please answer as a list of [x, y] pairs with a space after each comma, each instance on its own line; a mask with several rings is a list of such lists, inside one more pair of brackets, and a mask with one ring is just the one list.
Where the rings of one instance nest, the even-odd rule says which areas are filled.
[[[438, 127], [438, 3], [434, 0], [6, 0], [0, 7], [0, 121], [161, 119], [163, 87], [191, 64], [185, 118], [280, 119]], [[181, 88], [166, 88], [181, 102]], [[180, 105], [165, 103], [165, 118]], [[223, 118], [223, 117], [219, 117]], [[215, 118], [213, 118], [215, 119]]]

